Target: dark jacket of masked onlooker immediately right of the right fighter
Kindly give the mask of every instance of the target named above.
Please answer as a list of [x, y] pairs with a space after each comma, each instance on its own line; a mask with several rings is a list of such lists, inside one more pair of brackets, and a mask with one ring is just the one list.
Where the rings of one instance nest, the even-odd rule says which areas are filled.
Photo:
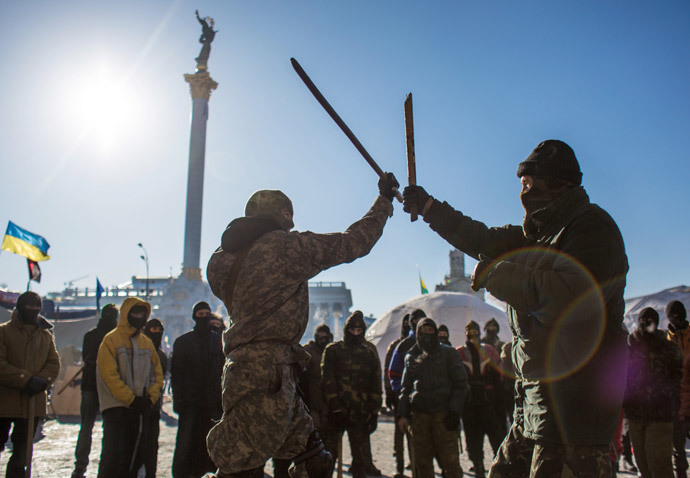
[[639, 329], [628, 337], [628, 347], [625, 416], [641, 422], [673, 421], [680, 406], [680, 349], [660, 330], [649, 335]]

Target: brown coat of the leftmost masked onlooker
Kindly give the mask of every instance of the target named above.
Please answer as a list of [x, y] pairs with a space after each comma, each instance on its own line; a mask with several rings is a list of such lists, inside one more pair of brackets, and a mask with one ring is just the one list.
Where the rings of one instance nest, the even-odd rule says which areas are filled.
[[[0, 325], [0, 417], [28, 418], [29, 396], [22, 389], [34, 375], [52, 385], [60, 372], [60, 358], [48, 321], [26, 325], [17, 309]], [[33, 396], [34, 415], [45, 416], [46, 392]]]

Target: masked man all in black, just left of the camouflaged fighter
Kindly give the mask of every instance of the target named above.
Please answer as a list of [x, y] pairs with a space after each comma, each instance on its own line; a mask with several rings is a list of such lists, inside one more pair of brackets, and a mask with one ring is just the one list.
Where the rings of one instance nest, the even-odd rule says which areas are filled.
[[211, 330], [211, 306], [194, 304], [194, 329], [173, 344], [170, 382], [173, 410], [178, 414], [173, 455], [174, 478], [203, 476], [215, 471], [206, 449], [206, 435], [223, 414], [221, 376], [225, 356], [221, 337]]

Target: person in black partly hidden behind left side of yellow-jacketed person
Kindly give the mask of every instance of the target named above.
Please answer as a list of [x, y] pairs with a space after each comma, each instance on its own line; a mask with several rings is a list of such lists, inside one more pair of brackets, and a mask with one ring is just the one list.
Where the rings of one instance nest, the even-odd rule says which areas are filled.
[[96, 358], [98, 348], [108, 332], [117, 326], [119, 310], [115, 304], [106, 304], [101, 310], [101, 318], [96, 327], [84, 334], [81, 349], [84, 369], [81, 379], [81, 426], [77, 446], [74, 449], [74, 471], [72, 478], [84, 478], [91, 453], [91, 433], [98, 415], [98, 389], [96, 387]]

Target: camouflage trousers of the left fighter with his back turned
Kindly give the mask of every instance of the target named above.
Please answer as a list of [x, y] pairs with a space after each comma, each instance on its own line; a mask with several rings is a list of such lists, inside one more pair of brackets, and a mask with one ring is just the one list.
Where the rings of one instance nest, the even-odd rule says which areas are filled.
[[206, 445], [221, 475], [292, 459], [306, 450], [314, 429], [296, 392], [290, 364], [231, 362], [223, 370], [223, 417]]

